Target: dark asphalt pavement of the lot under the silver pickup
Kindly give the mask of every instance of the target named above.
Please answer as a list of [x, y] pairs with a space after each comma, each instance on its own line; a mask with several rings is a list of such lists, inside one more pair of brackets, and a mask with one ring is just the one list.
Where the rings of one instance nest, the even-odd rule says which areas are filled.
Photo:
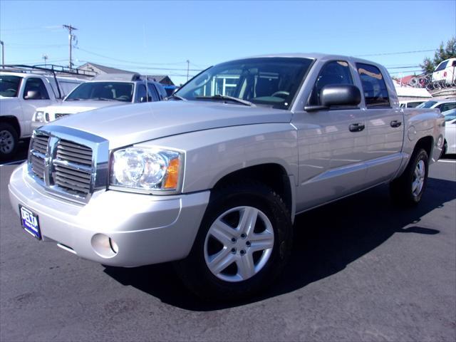
[[[299, 215], [291, 262], [249, 301], [202, 303], [170, 264], [105, 268], [19, 225], [0, 167], [0, 341], [456, 341], [456, 160], [423, 202], [380, 186]], [[16, 209], [16, 208], [15, 208]]]

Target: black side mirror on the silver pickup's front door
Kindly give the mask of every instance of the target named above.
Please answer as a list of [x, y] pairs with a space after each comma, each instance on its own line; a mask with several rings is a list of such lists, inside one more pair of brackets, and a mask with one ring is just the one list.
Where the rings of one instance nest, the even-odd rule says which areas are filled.
[[304, 110], [311, 112], [315, 110], [328, 109], [333, 105], [359, 105], [361, 102], [361, 91], [352, 84], [328, 84], [320, 90], [321, 105], [309, 105]]

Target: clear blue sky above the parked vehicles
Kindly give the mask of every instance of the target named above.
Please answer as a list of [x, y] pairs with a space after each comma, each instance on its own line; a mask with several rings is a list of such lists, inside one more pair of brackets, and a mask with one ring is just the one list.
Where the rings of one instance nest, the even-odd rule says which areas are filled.
[[[5, 63], [92, 61], [175, 83], [198, 69], [262, 53], [339, 53], [418, 71], [456, 35], [456, 1], [0, 1]], [[423, 51], [414, 53], [397, 53]], [[388, 54], [385, 54], [388, 53]], [[394, 54], [389, 54], [394, 53]], [[372, 56], [364, 56], [372, 55]], [[398, 68], [407, 66], [409, 68]]]

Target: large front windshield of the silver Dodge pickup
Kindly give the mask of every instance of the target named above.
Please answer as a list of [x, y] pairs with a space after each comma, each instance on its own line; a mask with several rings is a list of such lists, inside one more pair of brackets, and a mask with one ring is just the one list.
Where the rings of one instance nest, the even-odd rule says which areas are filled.
[[186, 100], [229, 100], [226, 96], [288, 109], [311, 63], [309, 58], [249, 58], [222, 63], [193, 78], [176, 94]]

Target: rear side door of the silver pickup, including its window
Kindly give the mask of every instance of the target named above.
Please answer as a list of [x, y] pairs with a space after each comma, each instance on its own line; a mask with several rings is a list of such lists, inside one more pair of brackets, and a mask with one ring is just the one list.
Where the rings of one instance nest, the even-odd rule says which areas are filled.
[[385, 77], [377, 66], [356, 63], [366, 107], [368, 186], [390, 180], [400, 166], [404, 137], [403, 112], [391, 103]]

